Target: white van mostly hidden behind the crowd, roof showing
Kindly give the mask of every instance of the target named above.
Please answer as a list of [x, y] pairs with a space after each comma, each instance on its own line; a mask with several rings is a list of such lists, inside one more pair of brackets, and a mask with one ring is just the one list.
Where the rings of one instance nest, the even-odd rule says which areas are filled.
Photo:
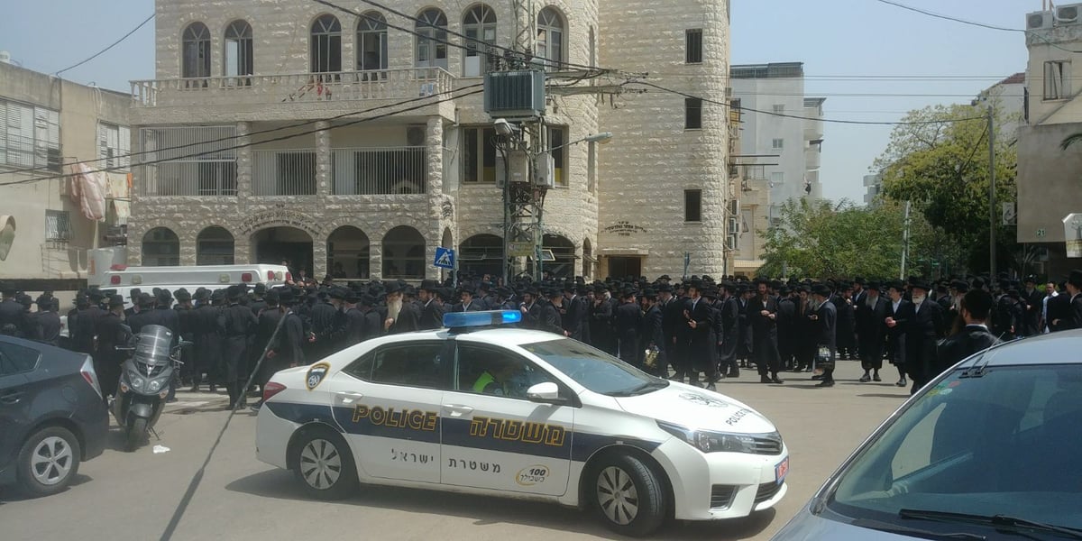
[[263, 283], [267, 289], [293, 281], [285, 265], [197, 265], [175, 267], [114, 267], [102, 273], [102, 289], [115, 290], [123, 296], [124, 306], [131, 305], [131, 290], [150, 293], [154, 288], [175, 292], [184, 288], [195, 293], [199, 288], [210, 290], [245, 283], [249, 287]]

